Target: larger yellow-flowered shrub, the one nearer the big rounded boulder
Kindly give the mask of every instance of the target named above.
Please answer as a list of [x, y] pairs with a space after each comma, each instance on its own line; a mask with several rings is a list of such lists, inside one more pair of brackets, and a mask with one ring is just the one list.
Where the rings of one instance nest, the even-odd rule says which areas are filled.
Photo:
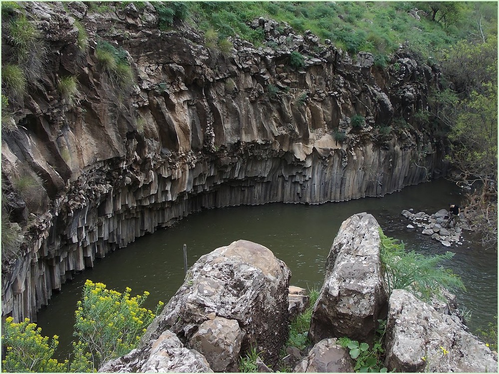
[[145, 328], [153, 321], [153, 312], [142, 307], [149, 292], [130, 297], [130, 288], [120, 293], [103, 283], [85, 282], [83, 297], [77, 303], [73, 335], [85, 346], [93, 363], [126, 355], [136, 348]]

